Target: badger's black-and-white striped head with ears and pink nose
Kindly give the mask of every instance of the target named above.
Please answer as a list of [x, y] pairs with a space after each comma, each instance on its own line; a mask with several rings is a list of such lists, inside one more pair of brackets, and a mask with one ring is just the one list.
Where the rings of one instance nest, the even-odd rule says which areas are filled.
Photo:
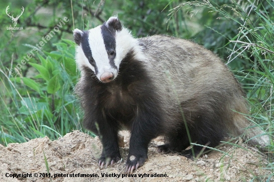
[[73, 35], [78, 45], [78, 67], [82, 72], [84, 67], [89, 67], [104, 83], [117, 77], [121, 61], [136, 44], [136, 39], [117, 17], [111, 17], [103, 25], [88, 31], [75, 29]]

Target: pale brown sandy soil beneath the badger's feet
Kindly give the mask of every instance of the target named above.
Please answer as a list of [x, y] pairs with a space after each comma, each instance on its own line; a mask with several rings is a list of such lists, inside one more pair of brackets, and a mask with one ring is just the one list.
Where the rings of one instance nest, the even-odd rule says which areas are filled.
[[[0, 182], [250, 182], [254, 179], [274, 182], [274, 177], [269, 178], [271, 171], [265, 169], [266, 156], [241, 139], [238, 141], [241, 147], [227, 144], [218, 148], [220, 151], [190, 160], [178, 154], [159, 154], [156, 146], [163, 141], [156, 138], [149, 145], [148, 161], [129, 176], [124, 171], [130, 135], [126, 131], [121, 135], [124, 136], [124, 147], [120, 149], [123, 159], [107, 169], [98, 166], [102, 150], [99, 138], [80, 131], [54, 141], [44, 137], [21, 144], [10, 143], [7, 147], [0, 145]], [[78, 174], [86, 177], [76, 177]]]

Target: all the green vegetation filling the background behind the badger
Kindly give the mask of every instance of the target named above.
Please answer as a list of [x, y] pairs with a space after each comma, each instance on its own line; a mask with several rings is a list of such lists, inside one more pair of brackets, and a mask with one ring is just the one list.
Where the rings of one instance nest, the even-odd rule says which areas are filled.
[[[14, 17], [24, 7], [16, 25], [23, 30], [7, 30], [13, 26], [5, 12], [8, 5]], [[273, 0], [2, 0], [0, 7], [2, 145], [43, 136], [56, 139], [75, 129], [88, 132], [73, 95], [79, 72], [72, 30], [93, 28], [113, 15], [136, 37], [168, 34], [218, 54], [247, 93], [250, 120], [273, 137]], [[64, 17], [68, 22], [21, 64]], [[22, 68], [12, 75], [10, 69], [17, 64]]]

